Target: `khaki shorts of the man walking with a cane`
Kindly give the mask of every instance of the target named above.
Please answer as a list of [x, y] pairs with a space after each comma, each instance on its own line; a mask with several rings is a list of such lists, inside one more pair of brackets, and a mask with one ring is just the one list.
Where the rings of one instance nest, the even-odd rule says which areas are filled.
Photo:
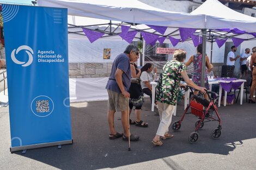
[[108, 110], [126, 111], [128, 109], [127, 98], [122, 93], [107, 90], [108, 93]]

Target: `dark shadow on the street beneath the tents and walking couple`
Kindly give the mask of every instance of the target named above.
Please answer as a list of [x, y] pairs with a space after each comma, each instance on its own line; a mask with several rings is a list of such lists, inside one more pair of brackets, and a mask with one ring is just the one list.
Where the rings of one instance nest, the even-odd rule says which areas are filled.
[[[194, 123], [197, 118], [187, 115], [182, 122], [179, 131], [170, 132], [174, 138], [163, 141], [163, 146], [155, 147], [151, 144], [157, 127], [159, 116], [157, 111], [149, 110], [149, 99], [143, 105], [143, 121], [149, 123], [148, 128], [131, 125], [131, 133], [140, 136], [138, 142], [131, 142], [131, 151], [128, 149], [128, 142], [121, 138], [115, 140], [108, 139], [107, 124], [107, 101], [88, 102], [71, 104], [72, 137], [74, 143], [57, 147], [48, 147], [28, 150], [26, 154], [16, 152], [15, 154], [25, 156], [40, 162], [47, 163], [60, 169], [101, 169], [115, 168], [133, 163], [145, 162], [155, 159], [163, 159], [168, 156], [183, 153], [211, 153], [228, 155], [237, 147], [243, 146], [243, 140], [255, 138], [256, 133], [256, 105], [247, 104], [221, 106], [218, 111], [222, 118], [222, 136], [218, 140], [210, 137], [211, 131], [217, 128], [217, 122], [206, 123], [199, 131], [199, 141], [196, 144], [188, 143], [188, 136], [194, 131]], [[183, 114], [183, 105], [178, 105], [178, 116], [173, 117], [173, 121], [179, 119]], [[134, 111], [131, 118], [134, 119]], [[115, 125], [118, 131], [122, 131], [120, 112], [115, 115]], [[173, 162], [166, 162], [169, 167], [174, 168]], [[145, 167], [146, 168], [146, 167]], [[179, 167], [175, 167], [179, 169]]]

